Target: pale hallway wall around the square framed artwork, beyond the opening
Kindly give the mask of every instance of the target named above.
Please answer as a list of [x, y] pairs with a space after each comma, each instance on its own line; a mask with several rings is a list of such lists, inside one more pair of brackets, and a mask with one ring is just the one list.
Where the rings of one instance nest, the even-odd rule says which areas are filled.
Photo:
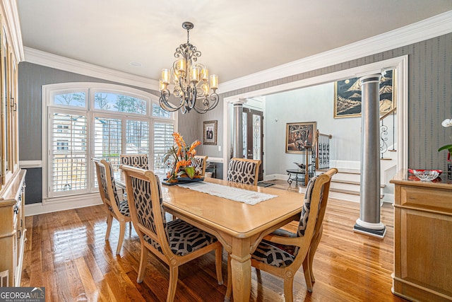
[[266, 175], [286, 174], [304, 162], [305, 153], [286, 153], [287, 123], [316, 122], [322, 134], [331, 134], [330, 161], [359, 162], [361, 118], [334, 118], [334, 83], [266, 96]]

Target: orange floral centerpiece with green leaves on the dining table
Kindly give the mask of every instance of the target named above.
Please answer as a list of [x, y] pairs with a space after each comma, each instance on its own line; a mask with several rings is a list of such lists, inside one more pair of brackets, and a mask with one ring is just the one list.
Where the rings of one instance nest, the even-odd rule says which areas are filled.
[[190, 146], [187, 146], [179, 132], [172, 134], [174, 138], [174, 145], [169, 148], [163, 162], [168, 161], [169, 158], [174, 158], [174, 165], [171, 172], [167, 173], [167, 182], [177, 182], [178, 178], [201, 178], [201, 169], [195, 166], [194, 156], [196, 155], [196, 147], [201, 144], [201, 141], [194, 141]]

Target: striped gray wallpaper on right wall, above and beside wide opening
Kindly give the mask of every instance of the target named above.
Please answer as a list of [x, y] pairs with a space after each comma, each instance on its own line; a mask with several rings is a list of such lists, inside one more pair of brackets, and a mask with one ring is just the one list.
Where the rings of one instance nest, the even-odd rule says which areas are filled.
[[[446, 151], [439, 153], [437, 150], [440, 146], [452, 143], [452, 129], [441, 127], [444, 119], [452, 118], [452, 33], [303, 74], [229, 91], [220, 97], [309, 79], [405, 54], [408, 54], [408, 165], [446, 170]], [[220, 121], [222, 112], [215, 112], [215, 116], [209, 118]], [[222, 144], [221, 135], [218, 144]], [[206, 155], [214, 156], [214, 153], [209, 152], [210, 150], [206, 150]]]

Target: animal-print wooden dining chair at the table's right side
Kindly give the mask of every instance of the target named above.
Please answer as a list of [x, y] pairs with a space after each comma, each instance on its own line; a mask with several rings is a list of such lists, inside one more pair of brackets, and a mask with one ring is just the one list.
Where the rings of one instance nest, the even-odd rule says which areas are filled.
[[[297, 233], [278, 229], [265, 236], [251, 255], [251, 265], [284, 279], [286, 302], [293, 301], [293, 278], [303, 265], [308, 291], [312, 291], [312, 260], [321, 238], [323, 216], [325, 215], [331, 177], [338, 169], [331, 168], [326, 173], [309, 180]], [[228, 267], [230, 263], [228, 262]], [[230, 297], [228, 277], [227, 298]]]

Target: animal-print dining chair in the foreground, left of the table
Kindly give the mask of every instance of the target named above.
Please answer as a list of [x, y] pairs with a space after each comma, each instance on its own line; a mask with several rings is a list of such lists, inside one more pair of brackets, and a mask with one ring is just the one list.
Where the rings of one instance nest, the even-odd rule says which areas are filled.
[[169, 266], [167, 302], [174, 300], [179, 266], [215, 250], [218, 284], [222, 284], [222, 245], [215, 236], [190, 223], [175, 219], [167, 222], [158, 176], [151, 170], [121, 165], [133, 226], [141, 243], [137, 282], [141, 283], [148, 264], [148, 250]]

